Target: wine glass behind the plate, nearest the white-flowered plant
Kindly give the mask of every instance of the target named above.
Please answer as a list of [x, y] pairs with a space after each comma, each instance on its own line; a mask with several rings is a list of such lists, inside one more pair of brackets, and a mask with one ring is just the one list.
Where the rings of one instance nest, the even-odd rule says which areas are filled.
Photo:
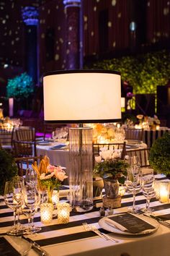
[[128, 192], [133, 194], [133, 208], [130, 208], [129, 211], [131, 213], [138, 213], [138, 208], [135, 206], [135, 195], [138, 194], [141, 189], [139, 166], [130, 166], [130, 168], [128, 168], [126, 187]]

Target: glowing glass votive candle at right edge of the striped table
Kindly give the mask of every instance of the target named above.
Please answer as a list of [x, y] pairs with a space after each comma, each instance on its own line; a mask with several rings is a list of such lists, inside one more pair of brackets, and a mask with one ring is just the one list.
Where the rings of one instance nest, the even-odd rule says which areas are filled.
[[162, 181], [159, 183], [159, 202], [169, 202], [169, 189], [169, 181]]

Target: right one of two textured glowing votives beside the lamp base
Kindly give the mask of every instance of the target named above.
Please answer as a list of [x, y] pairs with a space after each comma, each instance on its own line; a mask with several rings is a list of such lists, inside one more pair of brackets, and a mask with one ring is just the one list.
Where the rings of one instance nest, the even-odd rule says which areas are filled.
[[68, 202], [58, 203], [58, 223], [68, 223], [70, 218], [70, 205]]

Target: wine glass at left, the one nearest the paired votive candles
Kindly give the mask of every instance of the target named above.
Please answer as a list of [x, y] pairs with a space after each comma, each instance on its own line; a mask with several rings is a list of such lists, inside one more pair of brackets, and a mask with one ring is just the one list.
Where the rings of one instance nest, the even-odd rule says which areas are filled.
[[34, 215], [38, 205], [40, 205], [40, 194], [37, 192], [37, 189], [25, 185], [24, 208], [22, 209], [22, 213], [28, 218], [27, 234], [34, 234], [41, 230], [40, 227], [34, 225]]

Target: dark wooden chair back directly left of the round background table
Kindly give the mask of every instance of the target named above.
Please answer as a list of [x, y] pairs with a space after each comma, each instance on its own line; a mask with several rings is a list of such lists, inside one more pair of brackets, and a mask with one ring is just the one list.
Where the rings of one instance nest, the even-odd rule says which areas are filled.
[[13, 140], [14, 157], [35, 157], [37, 156], [35, 141]]

